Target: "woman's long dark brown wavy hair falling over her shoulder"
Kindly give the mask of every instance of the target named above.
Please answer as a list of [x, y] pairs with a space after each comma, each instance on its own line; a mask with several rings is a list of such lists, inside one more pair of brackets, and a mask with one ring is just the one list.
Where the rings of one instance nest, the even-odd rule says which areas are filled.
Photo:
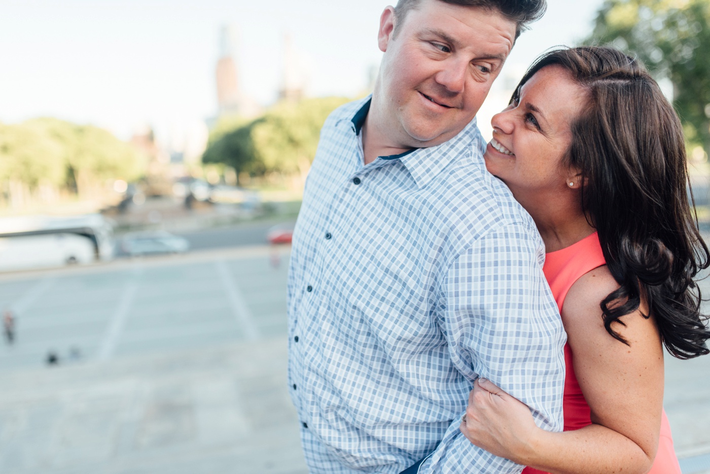
[[[582, 46], [537, 58], [515, 89], [557, 65], [584, 89], [587, 104], [572, 123], [566, 164], [581, 172], [581, 205], [599, 233], [606, 264], [620, 286], [601, 301], [604, 327], [648, 303], [667, 350], [705, 355], [707, 316], [694, 277], [709, 266], [689, 202], [682, 126], [638, 60], [613, 48]], [[690, 200], [692, 201], [692, 194]], [[694, 204], [694, 202], [693, 202]]]

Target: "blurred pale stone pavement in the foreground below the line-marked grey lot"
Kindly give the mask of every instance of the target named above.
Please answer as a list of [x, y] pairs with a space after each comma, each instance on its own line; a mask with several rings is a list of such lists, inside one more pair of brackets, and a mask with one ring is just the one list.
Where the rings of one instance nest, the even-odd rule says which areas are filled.
[[284, 338], [6, 373], [4, 474], [306, 474]]

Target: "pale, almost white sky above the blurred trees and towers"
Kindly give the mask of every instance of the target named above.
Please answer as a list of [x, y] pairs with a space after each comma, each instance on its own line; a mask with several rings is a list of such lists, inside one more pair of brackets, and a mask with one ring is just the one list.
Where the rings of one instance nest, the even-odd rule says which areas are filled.
[[[523, 70], [538, 53], [589, 32], [601, 0], [548, 0], [545, 18], [508, 59]], [[310, 65], [310, 95], [366, 85], [381, 53], [383, 0], [0, 0], [0, 122], [50, 115], [104, 126], [122, 138], [143, 124], [158, 134], [214, 114], [219, 29], [238, 29], [241, 88], [273, 102], [283, 37]]]

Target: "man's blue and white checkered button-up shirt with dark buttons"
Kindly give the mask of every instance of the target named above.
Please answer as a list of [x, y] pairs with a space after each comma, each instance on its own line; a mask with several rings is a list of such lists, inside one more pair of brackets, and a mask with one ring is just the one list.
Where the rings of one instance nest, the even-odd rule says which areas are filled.
[[519, 473], [459, 431], [474, 379], [562, 430], [565, 334], [530, 216], [475, 121], [364, 165], [370, 99], [325, 122], [288, 279], [289, 389], [311, 473]]

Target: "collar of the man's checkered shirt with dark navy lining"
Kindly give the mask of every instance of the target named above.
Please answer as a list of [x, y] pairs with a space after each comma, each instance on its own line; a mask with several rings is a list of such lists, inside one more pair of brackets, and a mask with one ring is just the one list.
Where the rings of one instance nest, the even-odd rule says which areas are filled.
[[[365, 119], [370, 112], [372, 104], [372, 95], [363, 99], [361, 107], [357, 109], [351, 123], [353, 131], [356, 135], [360, 134], [362, 126], [365, 124]], [[474, 117], [459, 134], [448, 141], [437, 146], [427, 148], [414, 148], [396, 155], [380, 156], [383, 160], [400, 160], [403, 165], [412, 173], [417, 185], [422, 188], [429, 181], [439, 174], [446, 166], [451, 163], [454, 157], [460, 156], [461, 153], [471, 153], [474, 151], [475, 144], [473, 141], [480, 137], [479, 129], [476, 126], [476, 118]], [[479, 138], [480, 139], [480, 138]]]

